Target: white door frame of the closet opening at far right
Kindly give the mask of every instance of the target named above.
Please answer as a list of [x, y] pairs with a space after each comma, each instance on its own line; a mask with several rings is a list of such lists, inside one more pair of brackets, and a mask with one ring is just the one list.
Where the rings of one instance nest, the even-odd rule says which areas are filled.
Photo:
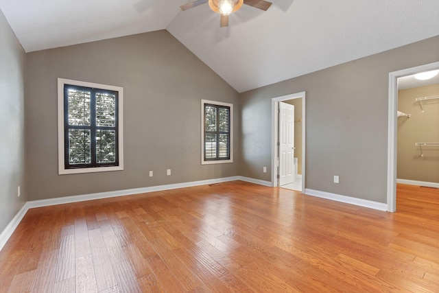
[[439, 69], [439, 62], [407, 68], [389, 73], [389, 112], [388, 112], [388, 172], [387, 172], [387, 211], [396, 211], [396, 134], [398, 110], [398, 78], [423, 71]]

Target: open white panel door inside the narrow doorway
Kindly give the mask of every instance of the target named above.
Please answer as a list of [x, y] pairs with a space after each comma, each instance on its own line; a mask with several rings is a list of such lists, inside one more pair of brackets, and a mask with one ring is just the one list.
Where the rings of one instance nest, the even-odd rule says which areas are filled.
[[279, 105], [279, 186], [294, 182], [294, 106]]

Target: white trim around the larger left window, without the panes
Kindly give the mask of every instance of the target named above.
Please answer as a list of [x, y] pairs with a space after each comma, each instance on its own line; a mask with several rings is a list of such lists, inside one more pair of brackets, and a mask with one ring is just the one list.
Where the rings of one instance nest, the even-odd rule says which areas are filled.
[[[64, 84], [86, 86], [96, 89], [106, 89], [110, 91], [117, 91], [119, 93], [119, 115], [117, 117], [119, 123], [119, 166], [89, 167], [78, 169], [66, 169], [64, 167]], [[64, 78], [58, 78], [58, 174], [82, 174], [121, 170], [123, 170], [123, 88], [120, 86], [110, 86], [107, 84], [95, 84], [92, 82], [80, 82], [78, 80], [67, 80]]]

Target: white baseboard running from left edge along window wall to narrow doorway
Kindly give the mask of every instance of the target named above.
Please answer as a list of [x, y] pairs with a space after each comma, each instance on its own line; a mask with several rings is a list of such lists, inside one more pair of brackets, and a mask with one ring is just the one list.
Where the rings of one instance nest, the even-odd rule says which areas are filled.
[[24, 215], [27, 213], [29, 209], [33, 209], [36, 207], [49, 207], [51, 205], [56, 204], [67, 204], [72, 202], [83, 202], [86, 200], [98, 200], [101, 198], [114, 198], [116, 196], [129, 196], [132, 194], [145, 194], [148, 192], [154, 191], [163, 191], [170, 189], [178, 189], [184, 187], [193, 187], [198, 185], [208, 185], [213, 183], [222, 183], [227, 181], [234, 180], [242, 180], [250, 183], [255, 183], [264, 186], [271, 186], [271, 183], [268, 181], [263, 181], [254, 178], [248, 178], [244, 176], [233, 176], [233, 177], [225, 177], [225, 178], [216, 178], [209, 180], [200, 180], [200, 181], [192, 181], [187, 183], [176, 183], [169, 185], [158, 185], [151, 187], [142, 187], [142, 188], [134, 188], [134, 189], [125, 189], [125, 190], [117, 190], [117, 191], [108, 191], [108, 192], [99, 192], [96, 194], [83, 194], [80, 196], [64, 196], [62, 198], [49, 198], [47, 200], [31, 200], [26, 202], [20, 211], [15, 215], [10, 224], [6, 226], [6, 228], [0, 234], [0, 250], [5, 246], [8, 239], [11, 237], [12, 233], [14, 233], [16, 227], [20, 224]]

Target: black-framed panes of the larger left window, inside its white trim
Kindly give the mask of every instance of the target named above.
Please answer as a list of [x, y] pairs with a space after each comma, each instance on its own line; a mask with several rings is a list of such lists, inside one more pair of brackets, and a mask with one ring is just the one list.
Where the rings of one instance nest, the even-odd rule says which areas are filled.
[[65, 84], [64, 99], [65, 167], [117, 165], [117, 92]]

